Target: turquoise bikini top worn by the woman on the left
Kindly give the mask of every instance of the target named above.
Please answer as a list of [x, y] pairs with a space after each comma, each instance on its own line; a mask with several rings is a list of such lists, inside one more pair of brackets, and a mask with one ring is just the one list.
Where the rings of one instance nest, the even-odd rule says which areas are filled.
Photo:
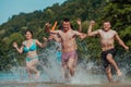
[[37, 49], [37, 46], [35, 44], [35, 39], [33, 39], [33, 44], [31, 45], [29, 48], [26, 47], [26, 44], [27, 44], [27, 41], [23, 42], [23, 45], [24, 45], [24, 48], [23, 48], [24, 53], [27, 53], [29, 51], [35, 51]]

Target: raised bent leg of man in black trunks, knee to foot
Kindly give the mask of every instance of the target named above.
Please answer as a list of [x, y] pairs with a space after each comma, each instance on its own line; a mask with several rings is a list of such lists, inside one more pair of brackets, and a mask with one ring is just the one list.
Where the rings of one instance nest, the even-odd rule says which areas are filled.
[[122, 74], [120, 72], [120, 69], [118, 67], [117, 63], [115, 62], [115, 60], [112, 59], [112, 55], [110, 53], [107, 54], [107, 60], [115, 67], [115, 70], [117, 71], [117, 75], [121, 76]]

